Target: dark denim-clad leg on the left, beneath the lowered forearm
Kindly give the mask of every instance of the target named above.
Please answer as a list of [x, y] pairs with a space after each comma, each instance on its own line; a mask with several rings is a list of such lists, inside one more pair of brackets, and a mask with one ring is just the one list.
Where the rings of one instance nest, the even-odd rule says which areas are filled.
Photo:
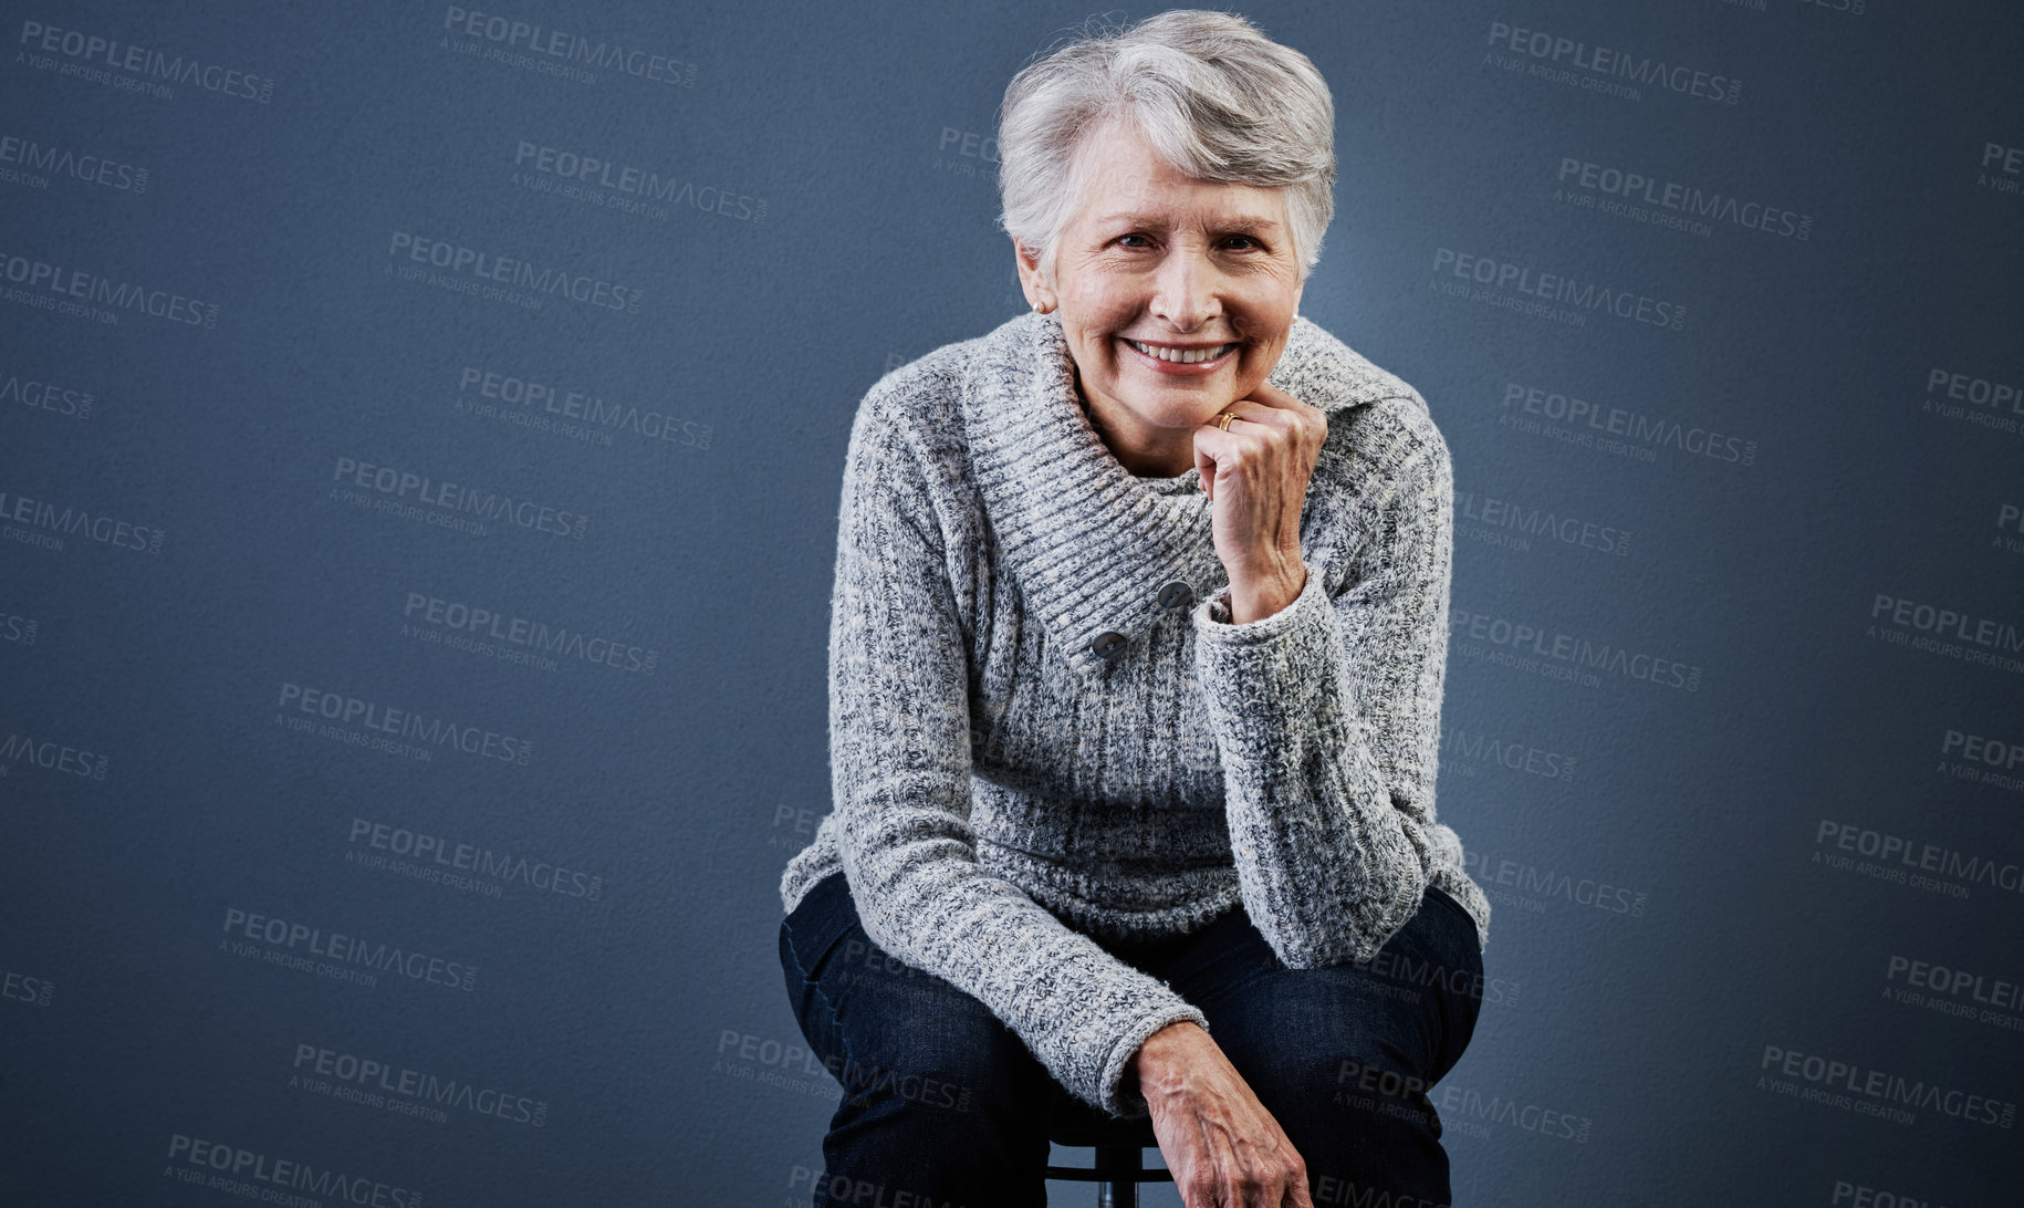
[[990, 1008], [872, 943], [842, 874], [779, 947], [802, 1034], [844, 1087], [818, 1204], [1044, 1202], [1052, 1076]]

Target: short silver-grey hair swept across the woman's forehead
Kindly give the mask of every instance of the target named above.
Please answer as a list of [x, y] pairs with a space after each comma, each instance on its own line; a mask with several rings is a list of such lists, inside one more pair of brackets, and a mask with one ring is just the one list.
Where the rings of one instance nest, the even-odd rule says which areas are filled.
[[1314, 63], [1229, 12], [1099, 26], [1032, 61], [998, 107], [998, 227], [1052, 271], [1089, 174], [1083, 134], [1131, 117], [1196, 180], [1285, 186], [1301, 277], [1336, 212], [1336, 105]]

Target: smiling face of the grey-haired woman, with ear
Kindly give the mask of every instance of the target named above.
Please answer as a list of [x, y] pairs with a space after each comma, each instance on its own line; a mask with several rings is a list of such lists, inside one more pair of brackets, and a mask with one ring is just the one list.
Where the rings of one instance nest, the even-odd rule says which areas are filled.
[[[1184, 473], [1194, 429], [1265, 382], [1293, 326], [1301, 275], [1285, 190], [1182, 176], [1129, 121], [1087, 138], [1091, 176], [1052, 277], [1020, 251], [1020, 279], [1028, 299], [1059, 304], [1103, 425]], [[1214, 356], [1176, 364], [1140, 344]]]

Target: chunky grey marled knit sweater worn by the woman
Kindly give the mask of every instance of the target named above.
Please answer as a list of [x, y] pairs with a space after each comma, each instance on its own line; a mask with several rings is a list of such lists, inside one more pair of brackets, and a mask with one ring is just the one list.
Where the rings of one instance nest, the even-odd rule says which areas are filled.
[[1057, 316], [884, 374], [850, 429], [834, 807], [781, 904], [842, 868], [878, 947], [1113, 1115], [1146, 1113], [1119, 1085], [1137, 1046], [1208, 1020], [1091, 935], [1192, 933], [1241, 900], [1289, 967], [1366, 961], [1431, 882], [1488, 943], [1433, 811], [1447, 445], [1413, 386], [1305, 318], [1269, 380], [1328, 413], [1328, 441], [1308, 585], [1245, 625], [1200, 473], [1117, 461]]

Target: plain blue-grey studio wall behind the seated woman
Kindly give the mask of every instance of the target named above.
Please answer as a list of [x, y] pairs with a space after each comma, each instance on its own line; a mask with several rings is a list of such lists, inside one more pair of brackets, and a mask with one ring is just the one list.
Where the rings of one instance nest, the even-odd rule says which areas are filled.
[[[846, 437], [1093, 10], [6, 10], [0, 1202], [806, 1202]], [[1243, 12], [1453, 453], [1457, 1202], [2016, 1204], [2024, 18]]]

